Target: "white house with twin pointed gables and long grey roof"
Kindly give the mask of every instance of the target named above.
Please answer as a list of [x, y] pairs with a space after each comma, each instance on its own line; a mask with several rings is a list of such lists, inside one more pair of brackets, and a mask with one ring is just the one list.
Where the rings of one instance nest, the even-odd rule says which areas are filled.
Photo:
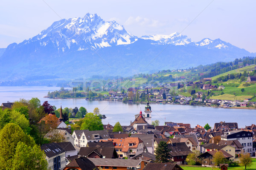
[[78, 147], [86, 147], [88, 142], [109, 139], [107, 130], [74, 130], [72, 136], [75, 139], [74, 144]]

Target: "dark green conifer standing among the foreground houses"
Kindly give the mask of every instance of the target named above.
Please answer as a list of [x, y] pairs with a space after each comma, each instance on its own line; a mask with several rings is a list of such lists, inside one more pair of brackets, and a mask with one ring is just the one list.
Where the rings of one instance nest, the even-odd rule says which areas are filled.
[[157, 163], [165, 163], [169, 162], [169, 159], [171, 158], [170, 152], [171, 150], [168, 148], [168, 145], [164, 141], [160, 141], [157, 145], [155, 152], [156, 155], [156, 161]]

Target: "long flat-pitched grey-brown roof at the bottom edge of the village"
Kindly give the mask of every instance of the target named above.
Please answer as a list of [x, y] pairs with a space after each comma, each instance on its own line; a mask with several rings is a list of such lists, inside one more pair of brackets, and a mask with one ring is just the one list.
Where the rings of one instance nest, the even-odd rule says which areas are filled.
[[105, 159], [88, 158], [96, 166], [114, 166], [114, 167], [137, 167], [142, 160], [137, 159]]

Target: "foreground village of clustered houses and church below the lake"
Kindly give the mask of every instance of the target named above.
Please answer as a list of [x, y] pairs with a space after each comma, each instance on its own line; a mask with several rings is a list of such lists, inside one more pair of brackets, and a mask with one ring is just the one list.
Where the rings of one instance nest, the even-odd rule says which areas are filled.
[[[12, 107], [3, 103], [2, 110]], [[144, 112], [144, 113], [143, 113]], [[103, 125], [104, 130], [72, 130], [60, 117], [49, 113], [41, 121], [52, 124], [45, 138], [61, 135], [61, 141], [41, 145], [49, 170], [136, 169], [149, 170], [156, 161], [156, 149], [160, 142], [170, 149], [170, 170], [183, 170], [187, 157], [198, 152], [202, 166], [215, 166], [213, 156], [221, 152], [227, 161], [238, 161], [241, 153], [256, 153], [256, 125], [239, 127], [236, 122], [216, 122], [207, 127], [191, 127], [189, 122], [165, 122], [164, 126], [152, 125], [151, 106], [146, 103], [144, 111], [135, 115], [130, 125], [122, 125], [113, 131], [113, 125]], [[39, 123], [40, 123], [39, 122]], [[69, 122], [72, 123], [72, 122]], [[208, 125], [209, 126], [209, 125]], [[207, 128], [207, 129], [206, 129]], [[158, 166], [167, 166], [166, 163]]]

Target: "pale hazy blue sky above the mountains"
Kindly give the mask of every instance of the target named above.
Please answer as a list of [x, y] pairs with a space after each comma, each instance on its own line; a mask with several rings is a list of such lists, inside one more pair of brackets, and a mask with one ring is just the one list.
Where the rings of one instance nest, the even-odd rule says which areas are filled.
[[0, 48], [88, 12], [141, 37], [180, 32], [192, 41], [220, 38], [256, 52], [255, 0], [2, 0]]

